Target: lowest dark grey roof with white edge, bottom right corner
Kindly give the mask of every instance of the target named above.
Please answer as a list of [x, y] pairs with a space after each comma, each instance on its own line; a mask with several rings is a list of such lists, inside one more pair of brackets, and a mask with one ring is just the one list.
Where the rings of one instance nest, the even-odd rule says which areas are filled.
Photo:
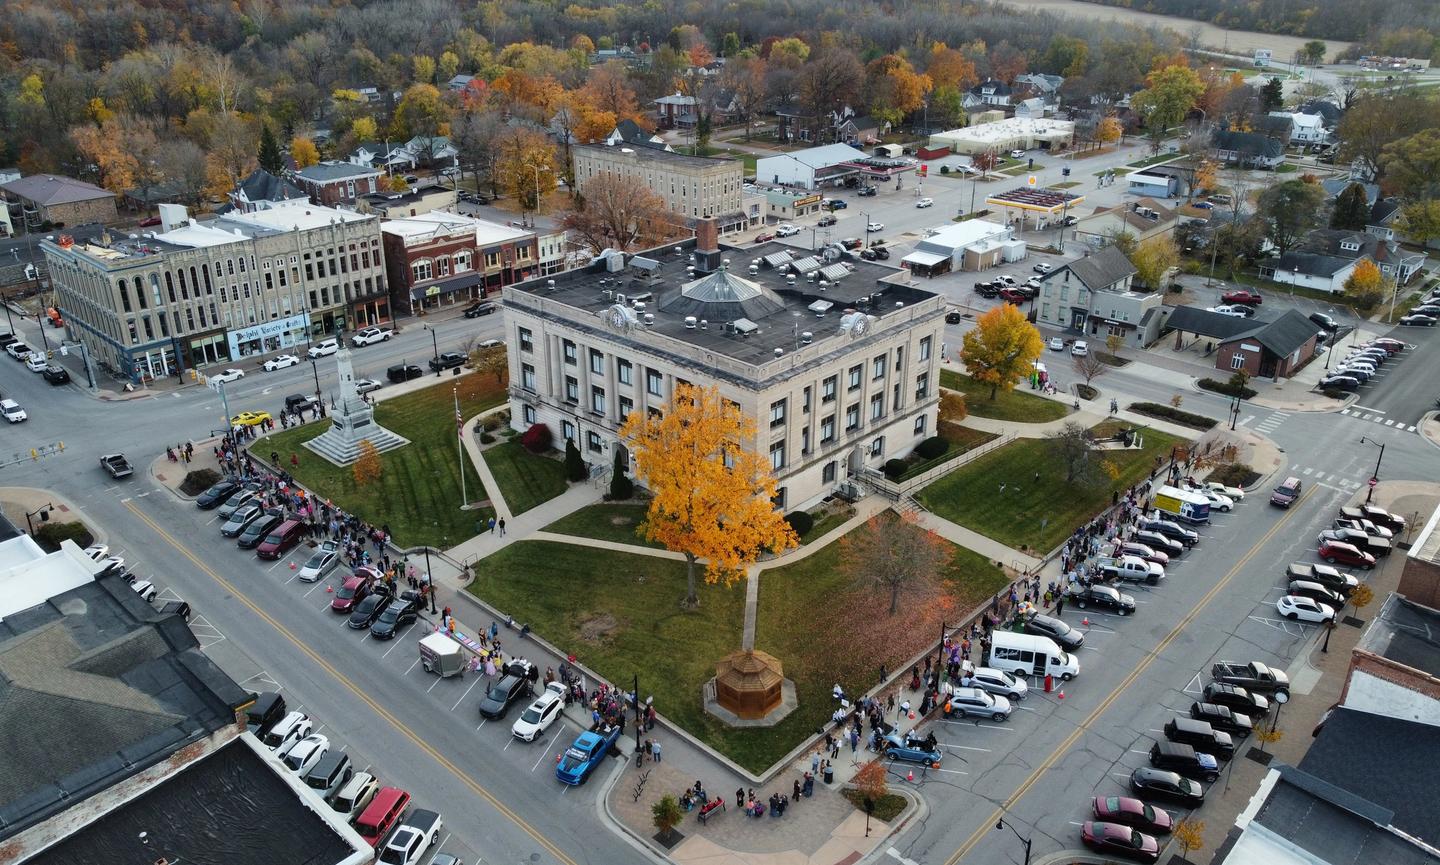
[[[1313, 859], [1331, 865], [1434, 865], [1437, 856], [1391, 832], [1394, 813], [1293, 766], [1276, 766], [1279, 779], [1254, 822]], [[1238, 846], [1238, 845], [1237, 845]], [[1240, 851], [1237, 851], [1240, 852]], [[1244, 852], [1250, 852], [1244, 849]], [[1284, 851], [1254, 851], [1267, 862], [1287, 862]], [[1230, 861], [1228, 858], [1225, 859]], [[1246, 859], [1241, 859], [1246, 861]]]

